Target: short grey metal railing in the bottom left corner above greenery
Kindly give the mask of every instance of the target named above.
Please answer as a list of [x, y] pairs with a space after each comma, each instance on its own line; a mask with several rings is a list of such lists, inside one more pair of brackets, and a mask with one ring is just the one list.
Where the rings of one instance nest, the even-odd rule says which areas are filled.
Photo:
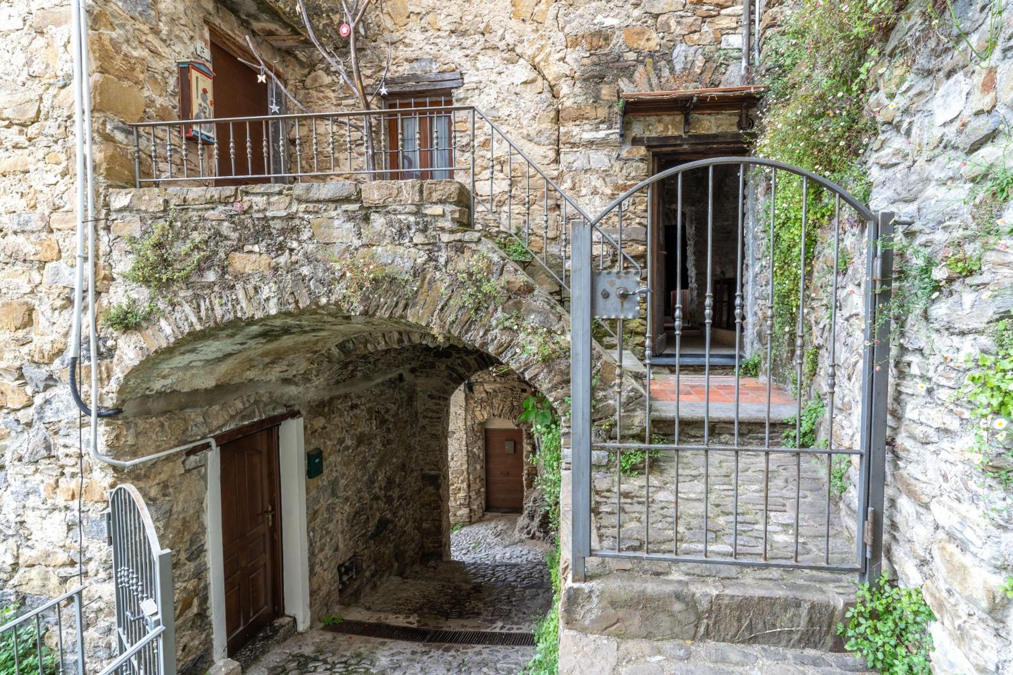
[[84, 587], [0, 625], [0, 672], [84, 675]]

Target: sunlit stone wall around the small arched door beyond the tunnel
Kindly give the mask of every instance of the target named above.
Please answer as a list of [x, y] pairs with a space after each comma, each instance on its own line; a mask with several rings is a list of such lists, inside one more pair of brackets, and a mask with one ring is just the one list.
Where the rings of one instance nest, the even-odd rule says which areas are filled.
[[[485, 429], [516, 426], [524, 411], [524, 399], [532, 391], [531, 385], [517, 375], [491, 370], [478, 373], [454, 392], [449, 437], [452, 523], [467, 525], [485, 513]], [[533, 439], [525, 430], [525, 493], [535, 484], [533, 451]], [[525, 505], [529, 506], [528, 500]]]

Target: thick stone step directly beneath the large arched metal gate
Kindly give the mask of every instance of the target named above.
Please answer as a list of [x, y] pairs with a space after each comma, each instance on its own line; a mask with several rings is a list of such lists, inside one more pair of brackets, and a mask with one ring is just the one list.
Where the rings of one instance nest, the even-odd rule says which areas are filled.
[[[853, 575], [593, 558], [563, 590], [567, 628], [618, 641], [706, 641], [843, 652]], [[622, 570], [623, 565], [631, 569]], [[620, 569], [615, 569], [619, 567]]]

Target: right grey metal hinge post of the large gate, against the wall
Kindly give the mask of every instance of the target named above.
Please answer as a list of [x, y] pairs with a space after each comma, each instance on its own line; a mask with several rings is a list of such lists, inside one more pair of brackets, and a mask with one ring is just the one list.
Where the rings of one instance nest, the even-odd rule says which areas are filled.
[[[886, 483], [886, 420], [889, 384], [890, 317], [884, 313], [892, 292], [893, 274], [893, 214], [880, 213], [870, 229], [869, 303], [872, 324], [866, 330], [871, 338], [868, 346], [869, 363], [866, 364], [870, 384], [867, 389], [869, 407], [865, 461], [867, 484], [865, 489], [865, 540], [864, 570], [859, 576], [862, 583], [875, 583], [882, 575], [883, 555], [883, 506]], [[859, 502], [861, 504], [861, 501]]]

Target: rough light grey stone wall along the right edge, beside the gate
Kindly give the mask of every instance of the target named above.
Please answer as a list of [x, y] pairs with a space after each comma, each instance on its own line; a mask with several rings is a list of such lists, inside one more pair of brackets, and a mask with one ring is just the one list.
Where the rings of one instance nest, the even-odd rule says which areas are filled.
[[[955, 5], [967, 33], [984, 40], [992, 4]], [[871, 71], [879, 121], [872, 207], [914, 221], [901, 235], [936, 260], [932, 274], [943, 282], [893, 347], [887, 556], [902, 583], [924, 585], [939, 617], [937, 672], [1009, 673], [1013, 611], [999, 587], [1013, 575], [1013, 521], [1010, 511], [993, 511], [1009, 494], [976, 467], [973, 423], [956, 393], [965, 356], [991, 350], [990, 323], [1013, 310], [1013, 202], [984, 216], [1007, 224], [999, 237], [976, 234], [978, 181], [1013, 158], [1013, 12], [1001, 16], [990, 64], [968, 63], [959, 46], [927, 33], [919, 17], [903, 21]], [[942, 265], [944, 251], [975, 245], [984, 248], [977, 274], [960, 278]]]

